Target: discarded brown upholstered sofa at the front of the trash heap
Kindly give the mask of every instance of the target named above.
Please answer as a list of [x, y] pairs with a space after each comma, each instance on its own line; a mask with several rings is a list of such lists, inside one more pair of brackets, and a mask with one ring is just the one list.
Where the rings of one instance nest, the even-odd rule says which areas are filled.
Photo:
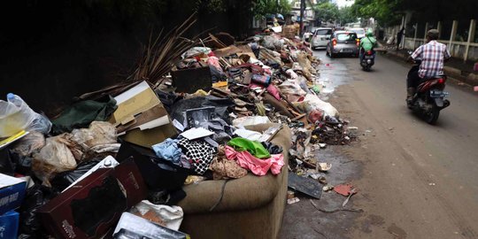
[[[272, 124], [248, 127], [264, 131]], [[286, 204], [290, 129], [283, 127], [272, 143], [284, 150], [281, 173], [229, 180], [224, 196], [216, 207], [224, 185], [221, 181], [202, 181], [185, 186], [187, 197], [180, 202], [184, 210], [181, 231], [191, 238], [276, 238], [281, 228]]]

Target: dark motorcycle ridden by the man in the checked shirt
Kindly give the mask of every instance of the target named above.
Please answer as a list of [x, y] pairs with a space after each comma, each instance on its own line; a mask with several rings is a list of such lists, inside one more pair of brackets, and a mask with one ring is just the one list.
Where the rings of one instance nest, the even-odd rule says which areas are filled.
[[[420, 69], [421, 60], [415, 59], [414, 63], [408, 72], [409, 75]], [[450, 94], [443, 91], [446, 79], [446, 75], [443, 74], [421, 81], [412, 100], [406, 102], [412, 112], [421, 114], [430, 125], [436, 123], [441, 110], [450, 106], [450, 101], [445, 99]]]

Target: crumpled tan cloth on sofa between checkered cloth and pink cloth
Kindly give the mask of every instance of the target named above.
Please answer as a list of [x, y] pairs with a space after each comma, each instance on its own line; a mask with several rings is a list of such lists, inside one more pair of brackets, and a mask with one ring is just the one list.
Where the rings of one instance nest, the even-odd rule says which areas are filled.
[[214, 180], [238, 179], [247, 175], [245, 168], [239, 166], [234, 160], [227, 160], [226, 148], [223, 145], [220, 145], [218, 155], [212, 159], [210, 168]]

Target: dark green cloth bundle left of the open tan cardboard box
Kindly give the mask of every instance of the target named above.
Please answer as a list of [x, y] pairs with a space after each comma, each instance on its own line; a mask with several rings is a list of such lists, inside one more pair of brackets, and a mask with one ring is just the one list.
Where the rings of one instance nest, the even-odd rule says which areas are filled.
[[72, 132], [73, 128], [89, 127], [93, 121], [106, 121], [116, 111], [116, 100], [112, 96], [104, 96], [96, 101], [85, 100], [66, 108], [60, 116], [51, 120], [51, 134], [60, 135]]

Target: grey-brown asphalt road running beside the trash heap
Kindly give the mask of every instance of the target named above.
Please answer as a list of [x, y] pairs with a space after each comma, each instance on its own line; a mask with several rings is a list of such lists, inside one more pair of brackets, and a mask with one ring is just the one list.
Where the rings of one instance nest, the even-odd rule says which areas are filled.
[[358, 58], [315, 55], [323, 77], [345, 81], [330, 102], [361, 135], [343, 152], [362, 167], [352, 200], [365, 212], [343, 236], [478, 238], [478, 92], [448, 84], [451, 106], [430, 126], [405, 107], [409, 66], [377, 56], [366, 73]]

